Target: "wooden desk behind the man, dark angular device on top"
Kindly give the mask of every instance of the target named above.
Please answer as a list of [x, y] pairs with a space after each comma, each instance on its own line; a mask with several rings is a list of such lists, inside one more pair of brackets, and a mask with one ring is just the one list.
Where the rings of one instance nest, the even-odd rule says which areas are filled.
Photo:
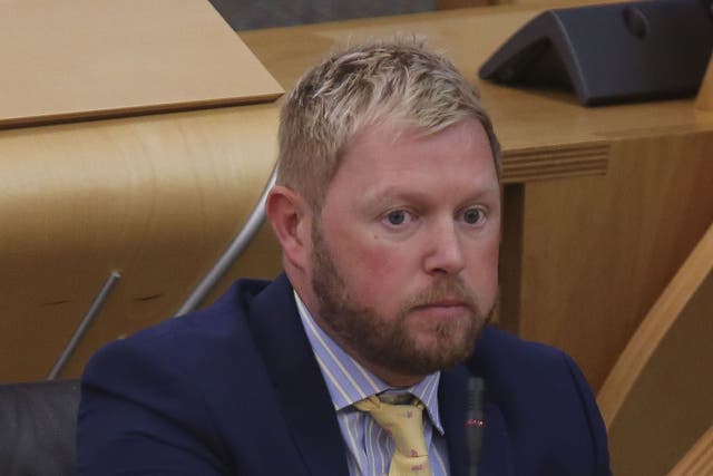
[[[476, 82], [540, 10], [495, 7], [256, 30], [282, 84], [340, 43], [418, 35]], [[584, 108], [573, 94], [479, 85], [505, 152], [501, 323], [572, 353], [595, 389], [713, 221], [713, 114], [693, 99]]]

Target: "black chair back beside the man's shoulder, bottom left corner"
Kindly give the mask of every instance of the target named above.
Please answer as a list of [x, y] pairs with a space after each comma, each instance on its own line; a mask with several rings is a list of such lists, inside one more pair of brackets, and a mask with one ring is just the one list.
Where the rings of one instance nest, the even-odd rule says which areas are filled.
[[76, 474], [79, 381], [0, 385], [0, 475]]

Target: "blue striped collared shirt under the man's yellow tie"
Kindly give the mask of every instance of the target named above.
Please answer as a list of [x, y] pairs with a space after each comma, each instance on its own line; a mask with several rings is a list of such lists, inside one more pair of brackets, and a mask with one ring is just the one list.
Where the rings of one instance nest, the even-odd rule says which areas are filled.
[[[438, 414], [438, 382], [440, 372], [427, 376], [408, 389], [391, 390], [377, 376], [364, 369], [339, 347], [315, 322], [297, 293], [294, 293], [300, 318], [312, 344], [329, 389], [336, 419], [346, 444], [346, 464], [351, 476], [389, 474], [393, 440], [369, 414], [352, 405], [380, 392], [409, 392], [423, 402], [426, 447], [433, 476], [448, 475], [448, 453], [443, 427]], [[428, 415], [428, 416], [427, 416]]]

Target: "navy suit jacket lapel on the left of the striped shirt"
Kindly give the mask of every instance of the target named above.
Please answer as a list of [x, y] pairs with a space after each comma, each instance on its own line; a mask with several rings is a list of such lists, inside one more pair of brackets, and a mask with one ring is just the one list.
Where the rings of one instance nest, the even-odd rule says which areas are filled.
[[285, 275], [251, 304], [251, 329], [309, 474], [344, 475], [346, 449], [332, 399]]

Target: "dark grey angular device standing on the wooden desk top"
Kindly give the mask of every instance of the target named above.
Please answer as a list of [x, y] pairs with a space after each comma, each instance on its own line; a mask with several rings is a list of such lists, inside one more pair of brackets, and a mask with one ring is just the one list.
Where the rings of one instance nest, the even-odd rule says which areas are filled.
[[573, 87], [592, 106], [696, 94], [713, 50], [711, 0], [546, 11], [480, 68], [506, 84]]

